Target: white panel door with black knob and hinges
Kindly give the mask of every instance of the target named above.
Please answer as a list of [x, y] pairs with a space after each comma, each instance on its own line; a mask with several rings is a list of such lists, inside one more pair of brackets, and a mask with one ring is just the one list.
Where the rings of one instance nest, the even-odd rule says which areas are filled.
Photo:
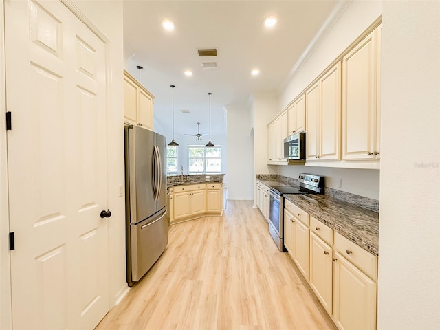
[[5, 1], [14, 329], [109, 309], [106, 45], [58, 1]]

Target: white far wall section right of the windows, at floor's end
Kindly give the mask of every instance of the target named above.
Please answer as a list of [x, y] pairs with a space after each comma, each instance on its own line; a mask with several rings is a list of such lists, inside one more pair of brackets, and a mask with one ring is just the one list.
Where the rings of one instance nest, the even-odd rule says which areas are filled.
[[228, 199], [254, 199], [254, 136], [249, 107], [228, 107]]

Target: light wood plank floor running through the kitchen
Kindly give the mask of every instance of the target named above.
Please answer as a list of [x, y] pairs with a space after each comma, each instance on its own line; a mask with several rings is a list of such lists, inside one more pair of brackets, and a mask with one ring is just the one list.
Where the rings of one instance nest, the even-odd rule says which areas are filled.
[[168, 247], [96, 329], [336, 329], [252, 201], [171, 225]]

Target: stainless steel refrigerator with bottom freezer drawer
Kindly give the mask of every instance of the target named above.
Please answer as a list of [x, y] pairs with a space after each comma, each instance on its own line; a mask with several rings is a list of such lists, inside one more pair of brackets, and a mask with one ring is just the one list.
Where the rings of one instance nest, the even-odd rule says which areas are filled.
[[168, 243], [166, 139], [137, 126], [124, 126], [126, 274], [139, 281]]

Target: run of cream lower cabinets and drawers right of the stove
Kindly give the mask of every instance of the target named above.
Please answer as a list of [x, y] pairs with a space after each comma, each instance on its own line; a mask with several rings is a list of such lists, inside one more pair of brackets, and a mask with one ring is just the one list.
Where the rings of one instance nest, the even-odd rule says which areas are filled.
[[284, 211], [285, 248], [338, 329], [375, 330], [377, 256], [287, 199]]

